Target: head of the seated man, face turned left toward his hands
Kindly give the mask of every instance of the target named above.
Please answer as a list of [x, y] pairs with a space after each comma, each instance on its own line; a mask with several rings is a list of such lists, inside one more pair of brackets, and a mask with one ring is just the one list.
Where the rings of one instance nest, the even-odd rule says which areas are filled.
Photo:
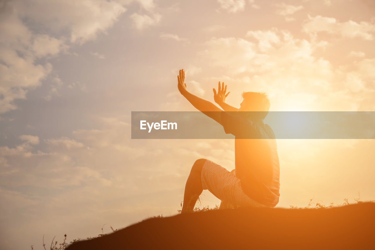
[[251, 116], [256, 118], [264, 119], [268, 111], [270, 110], [270, 101], [267, 98], [266, 93], [259, 92], [243, 92], [243, 101], [241, 102], [241, 107], [238, 111], [262, 111], [257, 113], [252, 113]]

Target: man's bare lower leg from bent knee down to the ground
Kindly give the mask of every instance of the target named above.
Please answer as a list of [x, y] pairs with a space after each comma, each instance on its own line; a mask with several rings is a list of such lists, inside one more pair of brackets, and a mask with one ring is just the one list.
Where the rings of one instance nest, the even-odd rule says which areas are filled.
[[189, 178], [187, 178], [185, 185], [182, 213], [193, 212], [196, 200], [198, 200], [199, 195], [201, 195], [203, 191], [201, 173], [205, 161], [206, 159], [198, 159], [191, 168]]

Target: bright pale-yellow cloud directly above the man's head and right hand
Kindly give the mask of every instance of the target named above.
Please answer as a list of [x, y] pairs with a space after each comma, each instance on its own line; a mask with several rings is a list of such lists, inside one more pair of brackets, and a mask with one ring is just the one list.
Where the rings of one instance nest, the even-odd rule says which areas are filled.
[[[214, 66], [225, 68], [229, 75], [242, 72], [263, 74], [278, 69], [278, 64], [314, 61], [314, 45], [304, 39], [295, 39], [286, 31], [278, 29], [249, 31], [242, 38], [211, 38], [206, 42], [208, 56]], [[254, 42], [253, 42], [254, 41]], [[284, 67], [281, 67], [284, 68]]]

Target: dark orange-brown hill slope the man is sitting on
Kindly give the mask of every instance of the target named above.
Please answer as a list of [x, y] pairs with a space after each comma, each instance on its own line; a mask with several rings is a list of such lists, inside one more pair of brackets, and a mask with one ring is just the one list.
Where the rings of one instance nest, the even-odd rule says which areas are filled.
[[68, 250], [369, 249], [375, 203], [324, 209], [239, 208], [150, 218]]

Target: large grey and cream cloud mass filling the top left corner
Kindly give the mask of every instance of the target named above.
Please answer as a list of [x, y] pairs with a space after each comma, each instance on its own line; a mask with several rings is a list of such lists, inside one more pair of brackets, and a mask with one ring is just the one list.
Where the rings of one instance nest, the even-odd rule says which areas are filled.
[[[141, 1], [142, 2], [142, 1]], [[144, 6], [147, 1], [143, 1]], [[84, 44], [104, 32], [126, 11], [120, 3], [106, 0], [5, 1], [0, 9], [0, 113], [17, 108], [29, 90], [41, 85], [52, 72], [48, 62], [37, 59], [56, 56], [71, 43]], [[67, 18], [69, 17], [69, 18]], [[34, 30], [39, 25], [43, 33]], [[60, 38], [54, 37], [60, 34]], [[57, 93], [58, 84], [45, 97]]]

